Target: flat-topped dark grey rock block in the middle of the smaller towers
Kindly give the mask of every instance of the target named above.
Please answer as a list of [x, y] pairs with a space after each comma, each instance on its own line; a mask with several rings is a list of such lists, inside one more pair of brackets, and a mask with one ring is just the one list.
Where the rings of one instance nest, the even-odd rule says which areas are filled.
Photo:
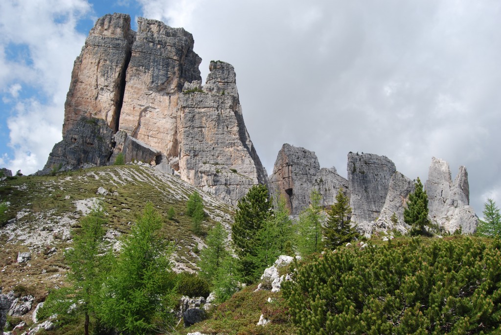
[[396, 171], [395, 164], [385, 156], [350, 152], [347, 170], [351, 219], [360, 226], [379, 217]]

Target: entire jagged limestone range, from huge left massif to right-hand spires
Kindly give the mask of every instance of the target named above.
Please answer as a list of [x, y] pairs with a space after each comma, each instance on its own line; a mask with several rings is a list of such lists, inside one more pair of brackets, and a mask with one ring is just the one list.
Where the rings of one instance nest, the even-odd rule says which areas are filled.
[[[143, 162], [175, 174], [227, 204], [253, 185], [267, 184], [299, 214], [317, 190], [322, 205], [341, 188], [361, 232], [406, 232], [403, 210], [414, 181], [385, 156], [348, 154], [347, 179], [321, 168], [315, 152], [284, 144], [268, 175], [245, 128], [233, 66], [211, 61], [202, 85], [193, 36], [156, 20], [125, 14], [97, 20], [75, 61], [65, 105], [63, 140], [39, 174], [82, 166]], [[430, 220], [445, 231], [473, 232], [468, 176], [454, 181], [447, 162], [433, 158], [425, 183]]]

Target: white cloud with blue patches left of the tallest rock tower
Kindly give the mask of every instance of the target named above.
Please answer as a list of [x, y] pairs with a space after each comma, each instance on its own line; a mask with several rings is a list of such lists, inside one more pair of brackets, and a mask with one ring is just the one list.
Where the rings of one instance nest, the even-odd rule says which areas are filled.
[[[0, 3], [0, 85], [17, 102], [7, 121], [14, 157], [4, 155], [3, 163], [13, 171], [42, 168], [61, 139], [73, 62], [85, 41], [76, 24], [90, 11], [85, 0]], [[12, 57], [9, 50], [20, 52]], [[21, 84], [36, 95], [23, 95]]]

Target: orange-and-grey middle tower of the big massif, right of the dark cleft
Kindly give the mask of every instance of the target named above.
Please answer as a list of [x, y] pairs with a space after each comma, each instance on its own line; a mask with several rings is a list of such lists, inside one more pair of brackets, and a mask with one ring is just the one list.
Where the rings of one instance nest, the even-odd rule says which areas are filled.
[[182, 28], [138, 19], [119, 128], [168, 157], [179, 151], [179, 93], [184, 83], [201, 81], [193, 44]]

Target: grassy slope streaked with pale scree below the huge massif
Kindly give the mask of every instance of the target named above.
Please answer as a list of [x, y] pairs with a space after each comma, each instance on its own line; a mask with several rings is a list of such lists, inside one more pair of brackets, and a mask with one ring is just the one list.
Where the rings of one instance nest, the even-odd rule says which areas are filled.
[[[99, 187], [107, 195], [96, 194]], [[197, 190], [180, 179], [142, 166], [108, 166], [57, 176], [24, 176], [0, 182], [0, 200], [10, 202], [7, 215], [16, 218], [0, 227], [0, 286], [4, 292], [22, 287], [32, 292], [37, 302], [48, 289], [64, 284], [64, 249], [71, 245], [71, 229], [78, 228], [83, 215], [77, 203], [101, 198], [108, 214], [110, 242], [127, 233], [130, 223], [151, 201], [164, 216], [163, 231], [176, 244], [178, 268], [194, 269], [197, 256], [192, 252], [202, 240], [191, 233], [191, 219], [182, 215], [188, 196]], [[206, 231], [216, 221], [229, 227], [233, 209], [200, 192], [208, 214]], [[173, 207], [173, 220], [166, 213]], [[56, 247], [57, 252], [48, 254]], [[31, 261], [17, 263], [18, 252], [31, 253]]]

